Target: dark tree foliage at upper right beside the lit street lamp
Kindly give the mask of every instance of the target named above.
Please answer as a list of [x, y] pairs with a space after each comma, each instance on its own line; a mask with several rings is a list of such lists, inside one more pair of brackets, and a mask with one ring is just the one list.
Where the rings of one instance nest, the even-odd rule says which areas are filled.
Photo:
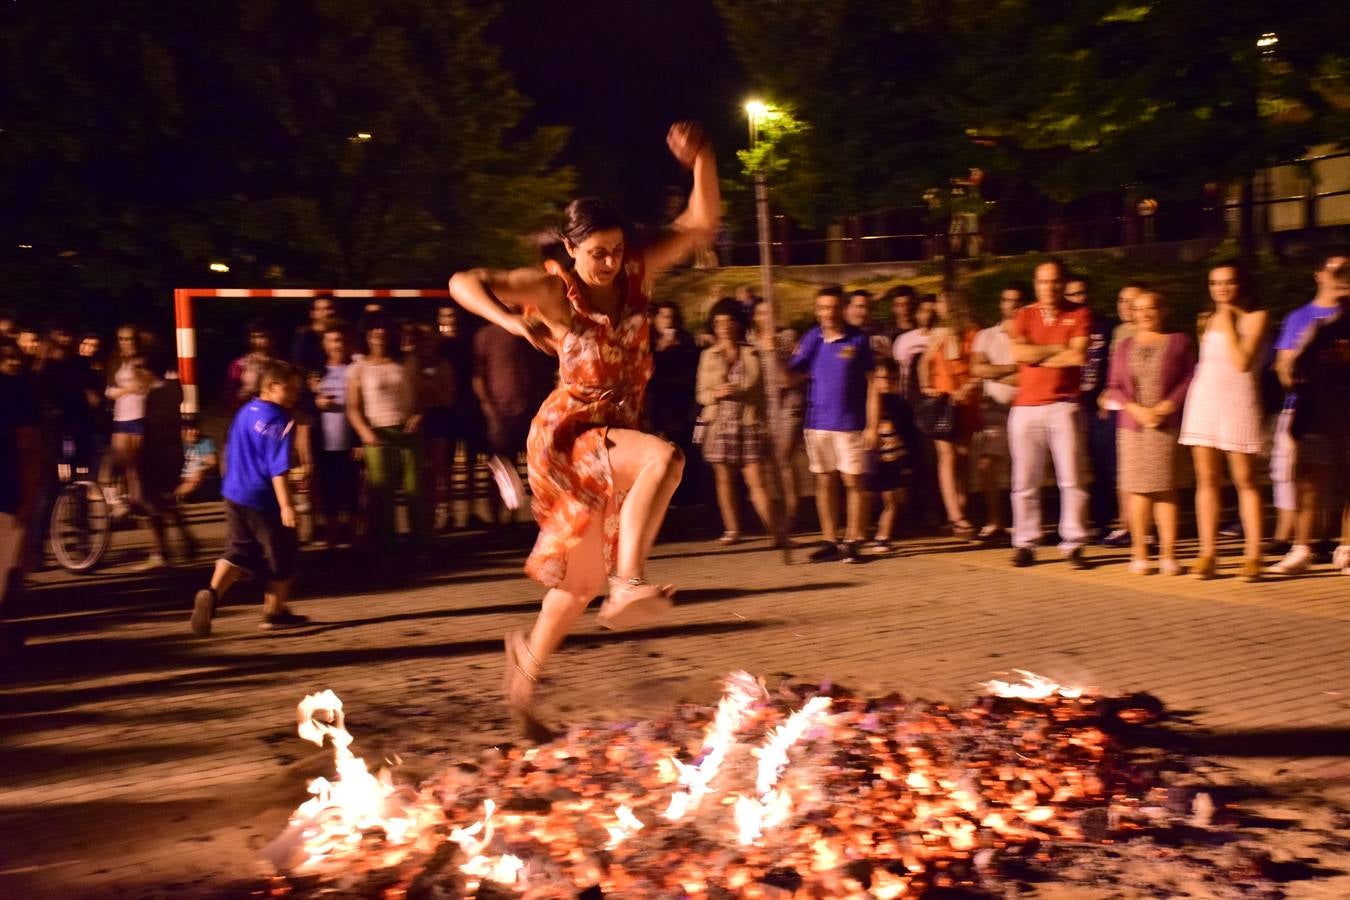
[[792, 165], [836, 216], [914, 204], [971, 166], [1060, 201], [1187, 193], [1346, 135], [1350, 13], [1332, 0], [718, 9], [751, 77], [810, 125]]

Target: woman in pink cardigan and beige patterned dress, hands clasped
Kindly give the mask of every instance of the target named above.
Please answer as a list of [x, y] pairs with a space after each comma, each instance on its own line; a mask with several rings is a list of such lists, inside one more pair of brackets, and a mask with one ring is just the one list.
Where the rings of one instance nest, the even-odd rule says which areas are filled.
[[1148, 575], [1150, 519], [1158, 525], [1158, 572], [1180, 575], [1176, 560], [1176, 472], [1181, 406], [1195, 356], [1181, 333], [1165, 333], [1162, 297], [1145, 290], [1134, 300], [1134, 335], [1116, 344], [1102, 405], [1119, 410], [1116, 448], [1120, 491], [1130, 498], [1130, 572]]

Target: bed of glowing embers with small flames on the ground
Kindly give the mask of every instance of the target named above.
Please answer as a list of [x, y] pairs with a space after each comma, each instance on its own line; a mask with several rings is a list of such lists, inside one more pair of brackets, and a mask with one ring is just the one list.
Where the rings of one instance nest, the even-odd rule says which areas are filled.
[[385, 897], [991, 889], [1010, 868], [1138, 831], [1165, 793], [1111, 737], [1137, 721], [1129, 704], [1022, 676], [957, 708], [771, 692], [737, 672], [711, 714], [578, 727], [418, 789], [370, 773], [324, 691], [300, 704], [300, 734], [332, 743], [336, 777], [310, 783], [265, 853], [292, 877]]

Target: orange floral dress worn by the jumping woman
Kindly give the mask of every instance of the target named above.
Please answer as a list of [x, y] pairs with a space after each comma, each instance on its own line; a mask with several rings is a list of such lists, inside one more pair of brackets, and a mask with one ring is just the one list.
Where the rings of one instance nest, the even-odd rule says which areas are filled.
[[525, 445], [539, 522], [525, 573], [556, 587], [567, 573], [568, 552], [582, 542], [593, 515], [605, 517], [605, 569], [614, 569], [624, 498], [614, 490], [608, 429], [639, 426], [652, 348], [641, 256], [629, 258], [618, 275], [624, 305], [617, 322], [590, 305], [571, 271], [555, 263], [548, 271], [567, 287], [572, 325], [558, 349], [558, 387], [535, 414]]

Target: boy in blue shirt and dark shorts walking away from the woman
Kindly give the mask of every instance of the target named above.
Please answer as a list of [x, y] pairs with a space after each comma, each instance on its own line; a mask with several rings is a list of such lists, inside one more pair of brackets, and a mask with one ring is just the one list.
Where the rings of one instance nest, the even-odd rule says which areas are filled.
[[296, 576], [296, 507], [286, 474], [296, 441], [292, 410], [300, 399], [300, 372], [289, 363], [269, 362], [259, 376], [258, 397], [235, 414], [227, 443], [230, 459], [221, 494], [225, 499], [225, 553], [216, 560], [211, 587], [192, 603], [192, 633], [211, 634], [211, 621], [225, 592], [240, 579], [267, 573], [263, 591], [265, 631], [309, 622], [286, 609]]

